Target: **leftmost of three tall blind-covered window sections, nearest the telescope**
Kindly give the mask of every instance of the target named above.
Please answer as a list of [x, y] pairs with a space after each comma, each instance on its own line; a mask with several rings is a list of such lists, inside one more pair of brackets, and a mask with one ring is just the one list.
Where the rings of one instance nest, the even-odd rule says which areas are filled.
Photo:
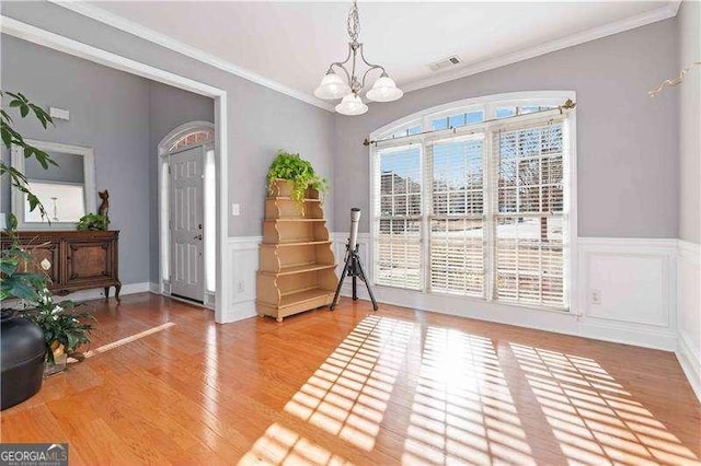
[[375, 282], [422, 288], [421, 145], [380, 150], [375, 173]]

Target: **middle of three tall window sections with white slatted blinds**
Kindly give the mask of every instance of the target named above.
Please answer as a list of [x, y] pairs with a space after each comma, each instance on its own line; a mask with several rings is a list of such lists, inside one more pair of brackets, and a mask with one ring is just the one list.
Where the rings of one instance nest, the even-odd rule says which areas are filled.
[[484, 136], [427, 145], [430, 291], [484, 296]]

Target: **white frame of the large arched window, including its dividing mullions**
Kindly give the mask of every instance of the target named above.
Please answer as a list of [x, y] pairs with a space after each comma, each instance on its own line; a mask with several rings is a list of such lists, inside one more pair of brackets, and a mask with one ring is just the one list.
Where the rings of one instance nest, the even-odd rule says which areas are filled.
[[[402, 128], [409, 128], [418, 124], [422, 125], [422, 131], [430, 131], [433, 119], [461, 113], [462, 110], [466, 110], [466, 109], [473, 112], [478, 108], [483, 107], [484, 119], [491, 120], [495, 118], [496, 107], [516, 106], [516, 105], [560, 106], [566, 100], [572, 100], [576, 102], [576, 93], [574, 91], [532, 91], [532, 92], [514, 92], [514, 93], [494, 94], [494, 95], [487, 95], [487, 96], [466, 98], [462, 101], [451, 102], [444, 105], [430, 107], [430, 108], [407, 115], [388, 125], [384, 125], [381, 128], [378, 128], [377, 130], [370, 133], [370, 140], [381, 140], [382, 138], [387, 138], [389, 135], [392, 135], [398, 130], [401, 130]], [[532, 117], [530, 117], [530, 115], [532, 115]], [[519, 118], [521, 118], [521, 121], [522, 121], [529, 118], [536, 119], [542, 116], [538, 114], [526, 114], [520, 116]], [[495, 129], [506, 125], [509, 125], [508, 119], [505, 119], [503, 121], [496, 120], [496, 121], [486, 123], [486, 124], [480, 123], [474, 126], [480, 127], [480, 130], [482, 130], [486, 128]], [[459, 130], [461, 132], [469, 131], [470, 126], [471, 125], [460, 127]], [[370, 245], [368, 247], [369, 264], [367, 268], [369, 270], [367, 270], [367, 272], [368, 272], [370, 282], [374, 283], [376, 287], [379, 287], [380, 289], [382, 288], [394, 289], [397, 287], [375, 283], [375, 269], [376, 269], [375, 259], [377, 254], [376, 252], [377, 244], [375, 242], [375, 238], [379, 233], [377, 231], [378, 222], [376, 222], [376, 219], [378, 218], [377, 206], [379, 203], [375, 199], [375, 177], [376, 177], [375, 171], [376, 171], [376, 166], [377, 166], [376, 164], [378, 159], [377, 154], [380, 150], [383, 150], [393, 145], [400, 147], [400, 145], [406, 145], [410, 143], [422, 143], [422, 172], [423, 172], [424, 170], [423, 143], [432, 139], [435, 139], [439, 136], [445, 137], [445, 135], [447, 135], [449, 131], [451, 131], [451, 129], [441, 130], [440, 133], [435, 133], [435, 135], [429, 133], [429, 135], [415, 135], [412, 137], [405, 137], [405, 138], [398, 139], [397, 141], [384, 142], [381, 147], [378, 147], [377, 144], [374, 144], [374, 143], [369, 145], [368, 167], [369, 167], [369, 173], [371, 177], [371, 180], [369, 183], [369, 193], [368, 193], [369, 200], [370, 200], [370, 212], [369, 212], [370, 213]], [[565, 153], [563, 154], [563, 171], [564, 171], [564, 175], [567, 177], [566, 183], [568, 186], [568, 196], [566, 196], [564, 199], [564, 202], [565, 202], [564, 210], [566, 212], [568, 234], [564, 238], [567, 247], [565, 248], [565, 253], [563, 257], [563, 266], [564, 266], [563, 286], [564, 286], [564, 293], [565, 293], [564, 302], [566, 303], [567, 308], [559, 310], [554, 307], [541, 307], [541, 306], [533, 306], [531, 304], [520, 304], [520, 303], [494, 300], [491, 293], [491, 290], [493, 289], [493, 280], [494, 280], [494, 277], [493, 277], [494, 276], [494, 264], [493, 264], [494, 255], [493, 254], [487, 255], [486, 257], [487, 260], [484, 264], [485, 271], [486, 271], [486, 277], [484, 281], [485, 296], [475, 298], [475, 296], [460, 295], [459, 296], [460, 300], [476, 301], [482, 303], [486, 301], [486, 302], [498, 303], [499, 305], [505, 305], [505, 306], [525, 307], [525, 308], [555, 312], [555, 313], [578, 314], [577, 300], [576, 300], [576, 296], [578, 295], [578, 289], [577, 289], [577, 270], [578, 270], [577, 231], [578, 229], [577, 229], [577, 208], [576, 208], [577, 207], [576, 112], [570, 110], [567, 118], [563, 121], [563, 132], [564, 132], [563, 139], [565, 141]], [[484, 149], [485, 158], [489, 158], [489, 154], [491, 153], [491, 149], [492, 149], [491, 143], [492, 143], [491, 138], [485, 137], [485, 149]], [[490, 176], [490, 170], [491, 170], [490, 164], [486, 163], [486, 160], [485, 160], [485, 164], [484, 164], [485, 182], [486, 182], [486, 177]], [[485, 186], [487, 185], [485, 184]], [[426, 206], [425, 199], [427, 199], [426, 190], [429, 187], [424, 186], [424, 189], [422, 193], [422, 196], [423, 196], [422, 202], [424, 208]], [[484, 195], [485, 195], [486, 205], [491, 206], [491, 201], [487, 198], [489, 196], [491, 196], [491, 194], [485, 190]], [[484, 213], [486, 217], [489, 212], [485, 210]], [[427, 277], [427, 267], [429, 265], [428, 264], [429, 244], [427, 241], [427, 230], [426, 230], [428, 228], [428, 225], [426, 225], [427, 212], [424, 212], [423, 210], [422, 210], [422, 219], [423, 219], [422, 220], [423, 270], [422, 270], [422, 279], [421, 279], [422, 289], [421, 291], [414, 291], [414, 290], [406, 290], [406, 291], [412, 293], [422, 293], [426, 295], [448, 295], [451, 298], [457, 298], [455, 294], [446, 294], [446, 293], [427, 291], [426, 277]], [[484, 246], [485, 248], [489, 248], [489, 251], [493, 251], [494, 238], [485, 237]]]

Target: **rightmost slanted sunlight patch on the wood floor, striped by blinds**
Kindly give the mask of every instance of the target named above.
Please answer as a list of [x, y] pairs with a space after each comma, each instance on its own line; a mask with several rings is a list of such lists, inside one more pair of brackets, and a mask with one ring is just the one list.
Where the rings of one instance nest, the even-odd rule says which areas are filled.
[[701, 465], [596, 361], [509, 345], [568, 462]]

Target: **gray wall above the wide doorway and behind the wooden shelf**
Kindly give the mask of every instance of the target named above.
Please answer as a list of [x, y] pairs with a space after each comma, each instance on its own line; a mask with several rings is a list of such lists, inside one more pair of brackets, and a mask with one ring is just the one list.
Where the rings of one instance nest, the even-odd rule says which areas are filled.
[[[227, 91], [226, 176], [229, 202], [241, 205], [241, 215], [228, 219], [229, 236], [262, 233], [265, 175], [278, 149], [299, 152], [319, 173], [333, 180], [331, 113], [51, 3], [5, 1], [1, 8], [3, 14], [18, 21]], [[326, 206], [334, 206], [333, 196], [327, 197]], [[333, 225], [333, 209], [326, 209], [326, 217]]]

